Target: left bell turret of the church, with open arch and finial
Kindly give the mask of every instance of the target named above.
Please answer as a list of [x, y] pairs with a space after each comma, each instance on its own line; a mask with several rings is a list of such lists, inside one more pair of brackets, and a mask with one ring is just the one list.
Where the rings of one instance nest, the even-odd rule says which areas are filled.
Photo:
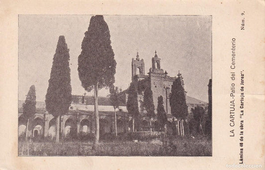
[[145, 63], [144, 59], [139, 58], [139, 53], [137, 52], [136, 59], [132, 58], [132, 81], [135, 75], [145, 75]]

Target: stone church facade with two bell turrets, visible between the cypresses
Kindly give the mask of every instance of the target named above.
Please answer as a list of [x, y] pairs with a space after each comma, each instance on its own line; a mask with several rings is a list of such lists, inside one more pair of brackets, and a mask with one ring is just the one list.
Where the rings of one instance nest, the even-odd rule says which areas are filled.
[[[180, 77], [182, 86], [184, 88], [184, 81], [181, 73], [178, 72], [177, 76], [170, 77], [167, 71], [164, 71], [161, 66], [161, 58], [158, 57], [157, 52], [155, 52], [155, 56], [152, 57], [152, 67], [149, 69], [148, 75], [144, 74], [144, 71], [139, 72], [138, 74], [135, 72], [136, 67], [140, 67], [141, 70], [144, 70], [144, 60], [140, 59], [139, 54], [137, 53], [136, 59], [132, 58], [132, 81], [137, 81], [138, 84], [145, 81], [145, 85], [151, 86], [151, 90], [153, 92], [153, 102], [155, 105], [155, 113], [157, 113], [157, 105], [158, 105], [158, 97], [163, 96], [165, 111], [168, 114], [168, 120], [172, 122], [173, 116], [171, 114], [170, 107], [170, 94], [173, 82]], [[125, 92], [126, 93], [126, 92]], [[126, 94], [128, 95], [128, 94]], [[142, 108], [143, 103], [143, 92], [138, 92], [138, 107], [139, 111], [142, 115], [142, 120], [147, 119], [145, 117], [145, 111]], [[126, 100], [127, 102], [127, 100]], [[207, 109], [208, 104], [206, 102], [191, 98], [186, 96], [186, 103], [188, 106], [188, 112], [191, 113], [191, 108], [195, 106], [202, 106], [204, 109]], [[189, 115], [188, 117], [190, 117]], [[153, 119], [156, 121], [156, 118]]]

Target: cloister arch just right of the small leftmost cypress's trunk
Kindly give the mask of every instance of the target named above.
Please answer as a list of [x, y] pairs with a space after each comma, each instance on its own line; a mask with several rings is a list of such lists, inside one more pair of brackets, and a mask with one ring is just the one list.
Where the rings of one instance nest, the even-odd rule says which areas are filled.
[[[31, 121], [31, 135], [32, 137], [38, 137], [42, 136], [44, 133], [44, 124], [45, 121], [41, 116], [36, 116], [32, 121]], [[37, 134], [37, 136], [36, 136]]]

